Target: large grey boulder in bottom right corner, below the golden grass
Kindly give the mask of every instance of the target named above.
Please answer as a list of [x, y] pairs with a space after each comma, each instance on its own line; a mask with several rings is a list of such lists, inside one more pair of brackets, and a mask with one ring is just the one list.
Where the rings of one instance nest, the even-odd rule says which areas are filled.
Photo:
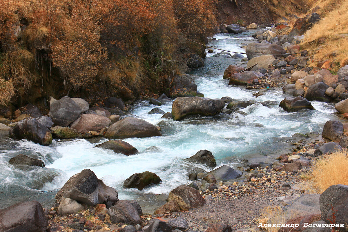
[[[335, 213], [335, 223], [344, 224], [347, 230], [348, 223], [348, 186], [335, 184], [328, 187], [319, 197], [319, 206], [322, 220], [331, 223], [332, 209]], [[342, 217], [343, 216], [343, 217]]]

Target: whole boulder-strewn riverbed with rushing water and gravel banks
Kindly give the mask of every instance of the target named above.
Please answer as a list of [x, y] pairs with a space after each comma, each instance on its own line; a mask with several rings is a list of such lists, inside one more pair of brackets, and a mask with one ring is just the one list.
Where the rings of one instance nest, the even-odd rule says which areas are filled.
[[299, 180], [316, 157], [346, 151], [346, 67], [307, 67], [284, 24], [221, 30], [209, 46], [247, 57], [208, 49], [156, 99], [66, 96], [47, 99], [48, 115], [3, 113], [0, 231], [230, 232], [268, 205], [328, 221]]

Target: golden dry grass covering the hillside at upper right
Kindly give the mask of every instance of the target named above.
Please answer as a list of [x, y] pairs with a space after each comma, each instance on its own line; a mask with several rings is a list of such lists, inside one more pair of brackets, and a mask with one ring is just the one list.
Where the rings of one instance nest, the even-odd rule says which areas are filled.
[[[319, 0], [313, 8], [315, 6], [320, 7], [317, 12], [322, 15], [322, 20], [304, 35], [303, 48], [320, 48], [314, 53], [310, 66], [316, 67], [318, 62], [330, 59], [332, 71], [337, 72], [348, 61], [348, 0]], [[320, 42], [322, 38], [324, 43]], [[337, 55], [331, 56], [332, 53]]]

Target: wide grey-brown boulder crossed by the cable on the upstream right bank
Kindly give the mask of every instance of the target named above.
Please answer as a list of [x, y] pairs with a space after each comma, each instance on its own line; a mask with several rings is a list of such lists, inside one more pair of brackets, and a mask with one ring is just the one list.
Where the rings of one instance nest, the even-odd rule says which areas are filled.
[[278, 56], [282, 56], [286, 53], [282, 46], [274, 43], [249, 43], [245, 50], [248, 59], [262, 56], [263, 54], [273, 55], [275, 58], [277, 58]]

